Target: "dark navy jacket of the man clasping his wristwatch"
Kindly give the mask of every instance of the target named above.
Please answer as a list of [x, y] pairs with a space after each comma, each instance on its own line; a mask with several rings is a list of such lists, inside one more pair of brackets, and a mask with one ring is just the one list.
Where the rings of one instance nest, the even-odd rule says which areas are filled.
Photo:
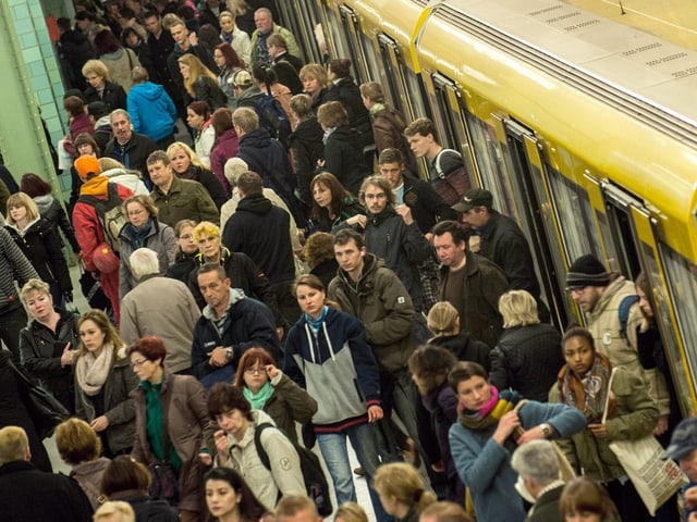
[[[230, 304], [222, 326], [222, 334], [213, 324], [215, 318], [211, 307], [206, 306], [194, 328], [192, 374], [198, 380], [221, 370], [224, 371], [223, 373], [229, 373], [231, 370], [234, 373], [242, 353], [252, 347], [266, 348], [271, 357], [278, 360], [279, 340], [273, 314], [266, 304], [245, 297], [244, 293], [237, 288], [231, 288]], [[230, 364], [222, 369], [208, 364], [210, 358], [207, 353], [219, 346], [233, 349]], [[215, 378], [215, 376], [209, 378]]]

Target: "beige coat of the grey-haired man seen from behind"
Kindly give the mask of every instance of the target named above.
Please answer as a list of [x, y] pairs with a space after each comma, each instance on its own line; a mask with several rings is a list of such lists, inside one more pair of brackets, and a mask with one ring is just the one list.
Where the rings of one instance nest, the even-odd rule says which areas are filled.
[[157, 335], [167, 346], [164, 364], [172, 373], [192, 365], [192, 332], [200, 311], [186, 285], [168, 277], [142, 279], [121, 301], [119, 332], [126, 345]]

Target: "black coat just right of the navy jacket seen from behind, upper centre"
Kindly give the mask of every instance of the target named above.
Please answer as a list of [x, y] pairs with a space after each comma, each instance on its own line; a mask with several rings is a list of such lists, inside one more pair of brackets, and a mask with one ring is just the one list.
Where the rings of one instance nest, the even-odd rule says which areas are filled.
[[317, 161], [325, 159], [322, 135], [321, 125], [315, 116], [310, 116], [299, 122], [293, 134], [289, 136], [299, 197], [307, 206], [313, 204], [309, 185], [315, 177]]

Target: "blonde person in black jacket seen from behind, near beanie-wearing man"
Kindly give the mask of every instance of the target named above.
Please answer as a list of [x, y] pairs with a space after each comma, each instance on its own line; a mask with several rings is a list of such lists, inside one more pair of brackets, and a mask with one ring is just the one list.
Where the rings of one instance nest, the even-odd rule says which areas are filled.
[[506, 291], [499, 298], [503, 332], [491, 350], [489, 377], [499, 388], [513, 388], [523, 397], [545, 401], [564, 365], [562, 336], [540, 323], [537, 302], [526, 290]]

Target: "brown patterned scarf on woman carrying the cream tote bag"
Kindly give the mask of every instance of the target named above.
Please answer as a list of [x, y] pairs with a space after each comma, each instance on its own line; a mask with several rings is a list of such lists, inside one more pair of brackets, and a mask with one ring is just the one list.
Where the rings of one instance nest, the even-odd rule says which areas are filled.
[[572, 371], [568, 364], [564, 365], [559, 372], [558, 381], [561, 402], [583, 411], [588, 423], [600, 422], [611, 371], [610, 361], [601, 353], [596, 353], [590, 370], [583, 376]]

